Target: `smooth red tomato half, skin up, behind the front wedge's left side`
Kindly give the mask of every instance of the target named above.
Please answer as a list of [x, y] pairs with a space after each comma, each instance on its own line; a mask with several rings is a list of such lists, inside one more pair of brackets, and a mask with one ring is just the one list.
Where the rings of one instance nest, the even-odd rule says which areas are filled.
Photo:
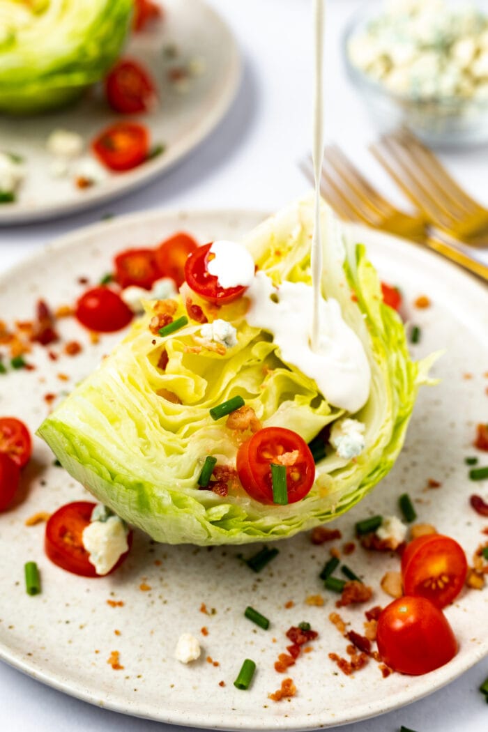
[[134, 313], [121, 296], [110, 288], [94, 287], [80, 297], [75, 315], [89, 330], [110, 333], [125, 328]]

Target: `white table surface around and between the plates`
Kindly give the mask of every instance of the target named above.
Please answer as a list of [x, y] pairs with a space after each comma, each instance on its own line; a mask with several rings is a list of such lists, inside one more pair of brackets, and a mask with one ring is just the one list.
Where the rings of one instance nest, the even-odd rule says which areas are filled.
[[[391, 198], [401, 201], [366, 152], [375, 128], [349, 86], [340, 59], [342, 29], [363, 3], [329, 0], [326, 139], [342, 144]], [[311, 137], [311, 1], [211, 0], [211, 4], [228, 20], [244, 56], [239, 97], [218, 129], [177, 168], [138, 193], [75, 217], [0, 230], [0, 271], [54, 236], [100, 220], [105, 212], [161, 207], [271, 211], [307, 190], [296, 162], [309, 149]], [[451, 151], [443, 154], [443, 160], [471, 193], [488, 204], [488, 147]], [[486, 261], [487, 254], [483, 255]], [[341, 729], [397, 732], [405, 725], [418, 732], [486, 732], [488, 706], [478, 686], [487, 676], [485, 659], [421, 701]], [[124, 717], [67, 697], [0, 663], [1, 732], [149, 732], [157, 728], [157, 722]], [[177, 729], [159, 725], [163, 728]]]

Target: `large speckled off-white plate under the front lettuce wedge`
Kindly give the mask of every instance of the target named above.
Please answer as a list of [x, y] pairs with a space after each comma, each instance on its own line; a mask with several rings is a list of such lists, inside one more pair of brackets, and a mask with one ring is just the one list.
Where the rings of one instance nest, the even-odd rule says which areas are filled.
[[[70, 234], [1, 277], [1, 317], [29, 318], [41, 295], [53, 307], [73, 302], [82, 289], [78, 277], [97, 282], [110, 269], [113, 253], [128, 245], [155, 244], [181, 228], [201, 242], [232, 239], [262, 217], [255, 212], [154, 212]], [[397, 465], [371, 496], [334, 524], [342, 531], [342, 540], [336, 543], [353, 539], [353, 523], [359, 518], [397, 513], [397, 497], [408, 490], [418, 520], [434, 523], [438, 531], [459, 539], [470, 557], [486, 539], [481, 529], [487, 524], [468, 504], [475, 488], [488, 498], [487, 482], [471, 483], [464, 463], [466, 455], [476, 452], [472, 447], [476, 423], [487, 421], [487, 290], [413, 244], [368, 229], [350, 231], [368, 244], [383, 277], [401, 286], [405, 315], [421, 326], [416, 355], [439, 348], [445, 348], [446, 355], [435, 367], [441, 383], [421, 391]], [[413, 299], [420, 294], [429, 295], [432, 307], [413, 308]], [[62, 321], [62, 329], [66, 337], [82, 340], [80, 329], [69, 319]], [[37, 370], [1, 376], [0, 414], [15, 414], [35, 430], [47, 413], [44, 395], [70, 389], [114, 340], [103, 337], [98, 346], [90, 346], [83, 337], [83, 354], [71, 359], [60, 356], [50, 361], [42, 349], [35, 352], [31, 361]], [[69, 380], [60, 381], [59, 374]], [[488, 462], [486, 454], [479, 458], [481, 464]], [[429, 478], [441, 482], [441, 487], [426, 490]], [[330, 727], [427, 695], [487, 654], [488, 591], [463, 591], [446, 611], [460, 646], [448, 665], [427, 676], [393, 674], [383, 679], [378, 665], [370, 662], [354, 677], [343, 676], [328, 657], [329, 651], [345, 655], [346, 642], [328, 619], [336, 597], [318, 579], [330, 545], [313, 546], [306, 534], [280, 542], [277, 559], [254, 575], [237, 558], [239, 548], [154, 545], [136, 533], [132, 553], [115, 575], [86, 580], [50, 564], [42, 551], [42, 525], [24, 526], [35, 512], [51, 512], [86, 495], [53, 466], [52, 456], [37, 438], [21, 494], [18, 505], [0, 516], [0, 657], [91, 703], [206, 728]], [[248, 546], [245, 556], [258, 548]], [[37, 561], [42, 575], [42, 594], [37, 597], [29, 597], [24, 589], [23, 564], [29, 559]], [[375, 588], [368, 607], [385, 605], [388, 597], [379, 589], [379, 580], [387, 569], [398, 568], [398, 560], [358, 547], [347, 562]], [[150, 589], [143, 591], [141, 585]], [[325, 605], [307, 605], [311, 595], [323, 597]], [[111, 607], [108, 600], [124, 604]], [[289, 601], [293, 607], [286, 609]], [[202, 603], [209, 614], [201, 612]], [[248, 604], [271, 619], [269, 631], [244, 618]], [[358, 632], [363, 630], [363, 609], [342, 610]], [[274, 661], [287, 645], [285, 631], [300, 621], [309, 621], [320, 638], [312, 643], [313, 651], [290, 669], [296, 697], [275, 703], [268, 693], [279, 688], [283, 676], [274, 671]], [[203, 627], [208, 635], [202, 634]], [[193, 665], [173, 660], [181, 632], [194, 633], [202, 643], [201, 660]], [[107, 662], [112, 651], [119, 651], [124, 667], [119, 671]], [[246, 657], [255, 660], [258, 671], [251, 690], [241, 692], [233, 680]]]

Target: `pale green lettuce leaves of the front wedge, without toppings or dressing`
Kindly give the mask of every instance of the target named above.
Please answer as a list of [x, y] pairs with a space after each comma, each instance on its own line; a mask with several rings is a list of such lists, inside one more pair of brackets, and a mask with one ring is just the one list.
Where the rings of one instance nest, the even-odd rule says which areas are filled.
[[[275, 283], [311, 283], [312, 220], [307, 198], [245, 239], [258, 269]], [[201, 325], [192, 320], [172, 335], [154, 336], [149, 322], [157, 305], [146, 303], [146, 315], [123, 342], [42, 423], [40, 436], [67, 471], [157, 541], [211, 545], [290, 537], [350, 509], [393, 466], [429, 363], [410, 359], [402, 321], [383, 305], [364, 246], [342, 237], [325, 205], [321, 228], [323, 296], [339, 302], [371, 369], [369, 398], [358, 413], [329, 404], [312, 378], [283, 362], [272, 336], [247, 324], [242, 298], [218, 313], [237, 328], [237, 344], [224, 354], [195, 347]], [[176, 302], [178, 318], [186, 314], [184, 298]], [[225, 497], [198, 490], [206, 455], [235, 466], [239, 438], [225, 419], [214, 422], [209, 415], [209, 408], [235, 395], [264, 426], [288, 427], [306, 441], [353, 417], [365, 425], [364, 450], [348, 460], [329, 447], [312, 490], [288, 506], [260, 504], [241, 488]]]

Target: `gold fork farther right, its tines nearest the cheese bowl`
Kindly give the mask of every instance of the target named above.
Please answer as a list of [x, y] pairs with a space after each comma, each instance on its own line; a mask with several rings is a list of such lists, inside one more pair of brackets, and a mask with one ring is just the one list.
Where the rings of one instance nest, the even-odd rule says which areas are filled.
[[447, 236], [488, 246], [488, 211], [462, 190], [435, 154], [408, 130], [369, 148], [426, 219]]

